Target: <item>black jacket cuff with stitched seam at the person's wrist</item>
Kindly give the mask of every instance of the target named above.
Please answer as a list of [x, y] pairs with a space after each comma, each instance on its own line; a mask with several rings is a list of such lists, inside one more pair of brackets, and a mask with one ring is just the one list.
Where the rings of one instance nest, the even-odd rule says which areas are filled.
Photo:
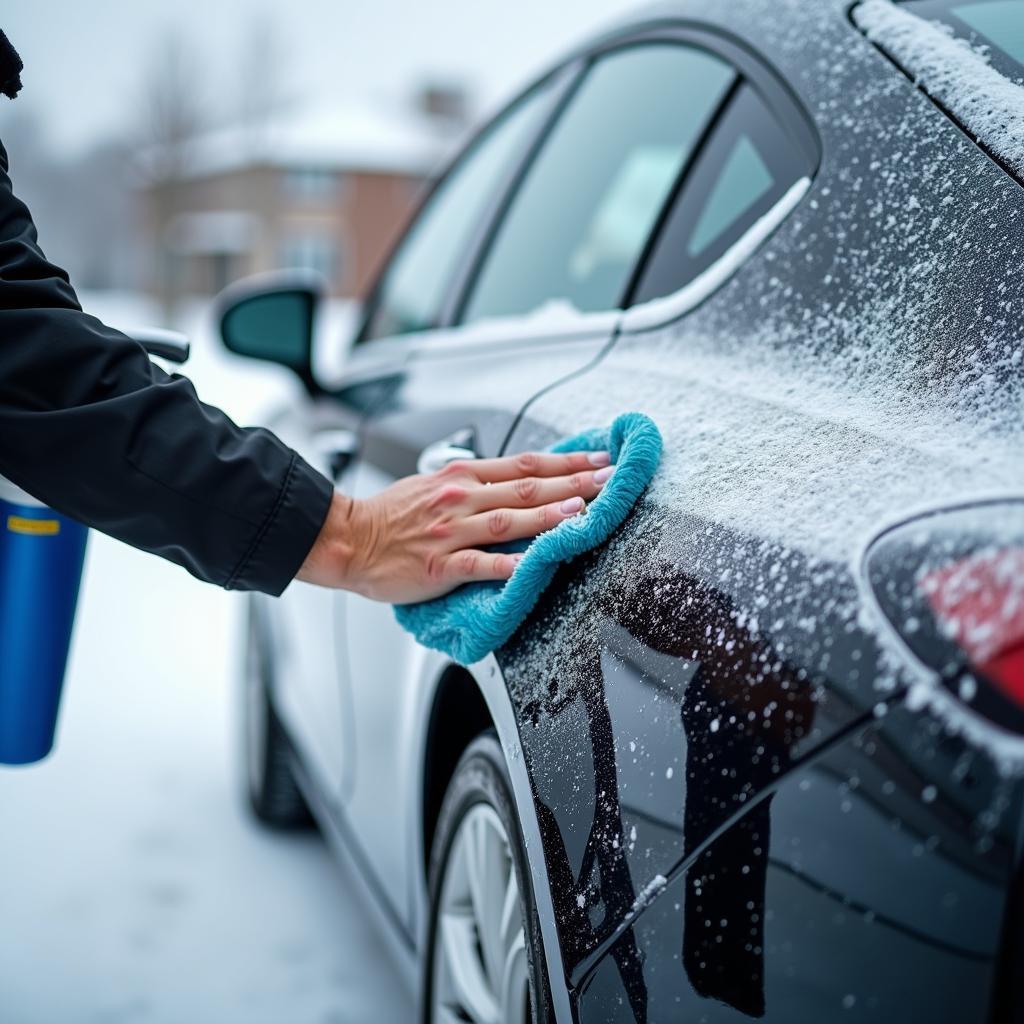
[[333, 497], [331, 481], [293, 453], [278, 500], [225, 589], [280, 597], [319, 536]]

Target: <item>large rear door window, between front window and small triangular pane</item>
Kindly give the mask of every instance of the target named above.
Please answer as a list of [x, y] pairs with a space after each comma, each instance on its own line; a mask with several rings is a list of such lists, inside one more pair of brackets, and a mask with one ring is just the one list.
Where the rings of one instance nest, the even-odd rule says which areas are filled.
[[735, 80], [705, 50], [647, 43], [598, 59], [528, 169], [462, 315], [550, 303], [613, 309], [680, 173]]

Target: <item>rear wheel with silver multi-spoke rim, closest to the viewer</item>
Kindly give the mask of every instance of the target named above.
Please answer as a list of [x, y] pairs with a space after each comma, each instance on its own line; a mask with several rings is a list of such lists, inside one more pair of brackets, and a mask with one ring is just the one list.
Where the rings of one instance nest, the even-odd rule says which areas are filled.
[[[512, 886], [517, 893], [510, 895]], [[510, 909], [513, 900], [517, 910]], [[466, 750], [441, 805], [424, 970], [424, 1024], [554, 1020], [526, 852], [494, 732]]]

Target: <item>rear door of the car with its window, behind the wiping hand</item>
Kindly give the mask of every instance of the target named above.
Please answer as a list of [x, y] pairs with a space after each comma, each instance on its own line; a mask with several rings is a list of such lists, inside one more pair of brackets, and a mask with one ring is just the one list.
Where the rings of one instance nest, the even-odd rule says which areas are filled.
[[[660, 39], [609, 46], [573, 75], [449, 322], [412, 336], [400, 379], [364, 423], [345, 480], [355, 497], [453, 455], [498, 455], [530, 398], [600, 357], [648, 236], [734, 80], [707, 51]], [[372, 311], [371, 334], [382, 318]], [[355, 595], [337, 600], [356, 751], [342, 800], [382, 888], [415, 927], [420, 851], [408, 816], [394, 810], [419, 799], [410, 709], [424, 652], [390, 608]], [[386, 804], [381, 793], [391, 795]]]

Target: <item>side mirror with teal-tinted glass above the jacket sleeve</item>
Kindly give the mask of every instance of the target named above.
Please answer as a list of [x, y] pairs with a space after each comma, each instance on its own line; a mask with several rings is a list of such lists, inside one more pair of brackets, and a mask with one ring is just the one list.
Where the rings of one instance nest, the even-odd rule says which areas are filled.
[[217, 298], [224, 347], [238, 355], [287, 367], [314, 391], [313, 327], [325, 290], [318, 274], [291, 270], [231, 285]]

